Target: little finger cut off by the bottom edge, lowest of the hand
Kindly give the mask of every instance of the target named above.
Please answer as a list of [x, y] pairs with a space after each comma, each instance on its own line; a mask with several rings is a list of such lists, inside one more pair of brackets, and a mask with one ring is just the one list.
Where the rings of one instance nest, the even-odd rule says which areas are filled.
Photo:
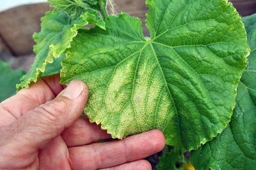
[[146, 160], [136, 160], [134, 162], [129, 162], [101, 170], [152, 170], [152, 167]]

